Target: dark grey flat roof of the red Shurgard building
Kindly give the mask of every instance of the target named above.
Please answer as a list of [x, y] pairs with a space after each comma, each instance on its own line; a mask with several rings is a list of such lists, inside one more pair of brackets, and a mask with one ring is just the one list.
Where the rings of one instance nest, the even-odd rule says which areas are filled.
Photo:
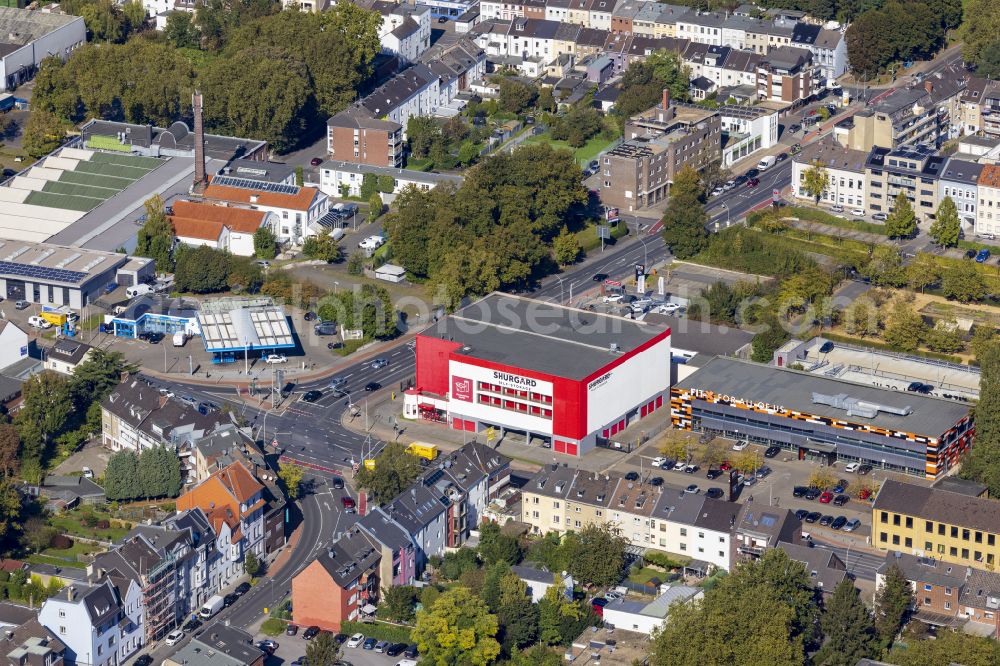
[[[667, 326], [492, 293], [442, 317], [421, 335], [462, 345], [456, 353], [583, 379], [668, 330]], [[616, 351], [611, 351], [617, 345]]]

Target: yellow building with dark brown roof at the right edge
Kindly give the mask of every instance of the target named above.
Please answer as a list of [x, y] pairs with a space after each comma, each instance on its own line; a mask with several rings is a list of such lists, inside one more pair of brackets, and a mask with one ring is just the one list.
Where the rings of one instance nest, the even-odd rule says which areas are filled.
[[1000, 561], [1000, 504], [887, 479], [872, 504], [872, 544], [969, 567]]

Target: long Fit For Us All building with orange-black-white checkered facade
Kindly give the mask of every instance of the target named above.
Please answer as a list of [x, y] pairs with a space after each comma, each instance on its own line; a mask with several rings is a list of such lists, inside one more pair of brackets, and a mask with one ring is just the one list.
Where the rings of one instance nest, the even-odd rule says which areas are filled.
[[721, 357], [670, 390], [670, 410], [676, 428], [928, 479], [954, 466], [974, 435], [961, 403]]

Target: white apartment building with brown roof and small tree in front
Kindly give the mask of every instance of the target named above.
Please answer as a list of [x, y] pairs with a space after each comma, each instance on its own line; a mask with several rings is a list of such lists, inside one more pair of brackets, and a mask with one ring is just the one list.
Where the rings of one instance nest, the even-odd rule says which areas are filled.
[[815, 202], [815, 197], [805, 189], [805, 179], [806, 172], [819, 165], [827, 175], [827, 187], [820, 196], [820, 202], [845, 208], [865, 208], [867, 161], [867, 153], [844, 148], [829, 137], [810, 144], [792, 158], [792, 195]]

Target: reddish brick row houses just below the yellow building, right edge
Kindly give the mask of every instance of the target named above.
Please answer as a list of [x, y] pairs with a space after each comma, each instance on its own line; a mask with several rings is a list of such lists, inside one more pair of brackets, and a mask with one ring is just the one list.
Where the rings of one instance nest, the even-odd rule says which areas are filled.
[[966, 630], [977, 635], [1000, 632], [1000, 574], [890, 550], [875, 572], [876, 590], [893, 565], [910, 582], [916, 619], [937, 627], [968, 623]]

